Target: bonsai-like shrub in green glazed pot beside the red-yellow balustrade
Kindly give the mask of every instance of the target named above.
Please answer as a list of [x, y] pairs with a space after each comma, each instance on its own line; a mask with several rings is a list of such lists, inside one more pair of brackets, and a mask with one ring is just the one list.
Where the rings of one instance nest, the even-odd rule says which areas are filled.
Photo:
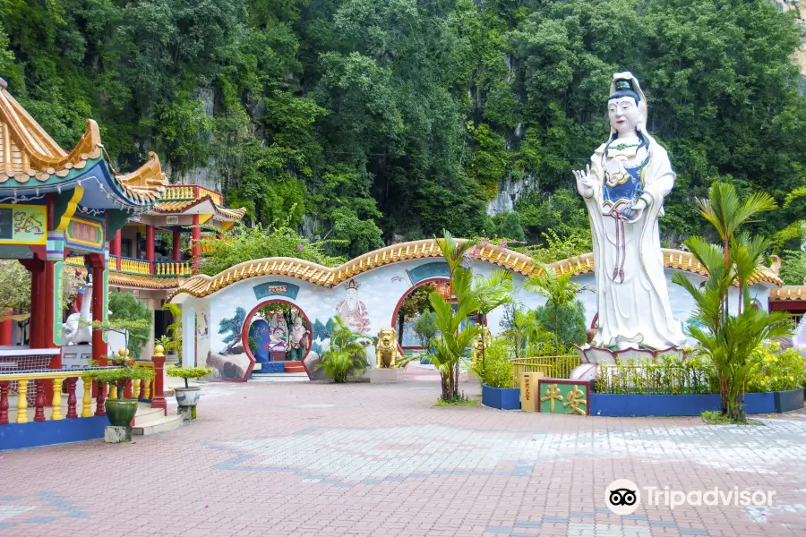
[[113, 427], [123, 427], [125, 429], [125, 439], [132, 438], [132, 420], [137, 413], [139, 402], [136, 395], [126, 397], [126, 383], [130, 380], [151, 380], [154, 378], [154, 370], [145, 367], [137, 367], [134, 361], [129, 359], [128, 351], [121, 349], [120, 356], [109, 357], [108, 362], [117, 366], [116, 369], [105, 369], [90, 372], [90, 377], [99, 384], [108, 384], [115, 387], [110, 390], [109, 397], [104, 402], [104, 409], [107, 412], [109, 424]]

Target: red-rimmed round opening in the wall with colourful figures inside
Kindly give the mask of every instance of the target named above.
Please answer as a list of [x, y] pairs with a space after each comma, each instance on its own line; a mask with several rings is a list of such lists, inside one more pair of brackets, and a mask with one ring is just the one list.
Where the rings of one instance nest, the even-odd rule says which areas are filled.
[[304, 371], [310, 377], [304, 361], [313, 345], [313, 325], [297, 304], [279, 298], [259, 303], [246, 316], [241, 339], [260, 371]]

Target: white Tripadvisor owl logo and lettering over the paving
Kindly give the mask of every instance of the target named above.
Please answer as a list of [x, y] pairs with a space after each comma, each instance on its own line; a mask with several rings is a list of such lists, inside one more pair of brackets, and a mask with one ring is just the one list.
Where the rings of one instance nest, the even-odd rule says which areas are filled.
[[631, 515], [645, 499], [647, 507], [681, 506], [771, 506], [775, 490], [739, 490], [739, 487], [724, 490], [714, 487], [708, 490], [673, 490], [669, 487], [644, 487], [641, 489], [627, 479], [617, 479], [604, 490], [604, 505], [616, 515]]

